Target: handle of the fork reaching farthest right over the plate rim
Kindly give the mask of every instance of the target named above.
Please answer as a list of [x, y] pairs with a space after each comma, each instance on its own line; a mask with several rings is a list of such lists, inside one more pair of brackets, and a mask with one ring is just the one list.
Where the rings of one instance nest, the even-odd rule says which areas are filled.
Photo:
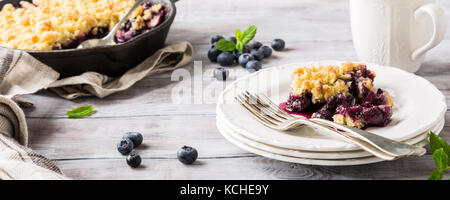
[[349, 139], [363, 141], [364, 143], [371, 145], [373, 148], [397, 158], [404, 156], [422, 156], [426, 153], [426, 150], [422, 147], [415, 147], [413, 145], [397, 142], [358, 128], [337, 124], [332, 121], [319, 118], [311, 118], [309, 120], [328, 126], [329, 128], [334, 129], [337, 133], [340, 133]]

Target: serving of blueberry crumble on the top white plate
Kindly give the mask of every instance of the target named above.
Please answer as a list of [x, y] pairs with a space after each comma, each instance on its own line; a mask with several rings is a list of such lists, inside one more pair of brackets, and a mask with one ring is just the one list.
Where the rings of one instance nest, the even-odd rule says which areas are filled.
[[280, 107], [356, 128], [384, 127], [391, 122], [393, 102], [386, 91], [374, 89], [374, 79], [375, 72], [359, 63], [300, 67], [293, 73], [287, 102]]

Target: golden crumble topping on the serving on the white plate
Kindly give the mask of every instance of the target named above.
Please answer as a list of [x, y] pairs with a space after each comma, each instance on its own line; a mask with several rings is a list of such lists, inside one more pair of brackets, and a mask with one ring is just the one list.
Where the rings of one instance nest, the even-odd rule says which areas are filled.
[[[363, 73], [370, 73], [367, 77]], [[340, 94], [349, 95], [352, 86], [352, 74], [360, 77], [358, 88], [373, 91], [375, 73], [366, 70], [366, 65], [346, 62], [340, 66], [300, 67], [293, 73], [292, 93], [302, 95], [312, 94], [312, 103], [326, 102], [330, 97]]]

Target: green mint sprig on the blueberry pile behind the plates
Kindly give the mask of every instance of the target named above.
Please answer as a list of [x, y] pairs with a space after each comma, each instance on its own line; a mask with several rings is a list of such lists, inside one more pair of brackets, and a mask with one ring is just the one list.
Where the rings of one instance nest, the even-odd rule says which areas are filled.
[[244, 46], [255, 38], [257, 30], [258, 27], [255, 25], [249, 26], [244, 32], [237, 29], [235, 35], [237, 43], [221, 39], [217, 42], [216, 49], [220, 51], [234, 51], [235, 49], [242, 51]]

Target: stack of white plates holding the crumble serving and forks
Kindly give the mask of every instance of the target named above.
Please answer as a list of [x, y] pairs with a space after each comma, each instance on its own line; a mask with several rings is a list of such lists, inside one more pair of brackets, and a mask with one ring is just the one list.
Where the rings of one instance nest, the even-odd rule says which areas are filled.
[[[308, 127], [294, 131], [267, 128], [234, 99], [247, 90], [265, 94], [275, 103], [281, 103], [288, 97], [295, 68], [340, 63], [342, 61], [294, 63], [260, 70], [236, 80], [219, 97], [217, 128], [236, 146], [277, 160], [311, 165], [359, 165], [382, 161], [338, 136], [315, 132]], [[397, 68], [367, 66], [377, 74], [375, 87], [387, 90], [394, 101], [391, 124], [367, 131], [418, 146], [427, 144], [429, 131], [441, 132], [447, 105], [444, 95], [433, 84]]]

